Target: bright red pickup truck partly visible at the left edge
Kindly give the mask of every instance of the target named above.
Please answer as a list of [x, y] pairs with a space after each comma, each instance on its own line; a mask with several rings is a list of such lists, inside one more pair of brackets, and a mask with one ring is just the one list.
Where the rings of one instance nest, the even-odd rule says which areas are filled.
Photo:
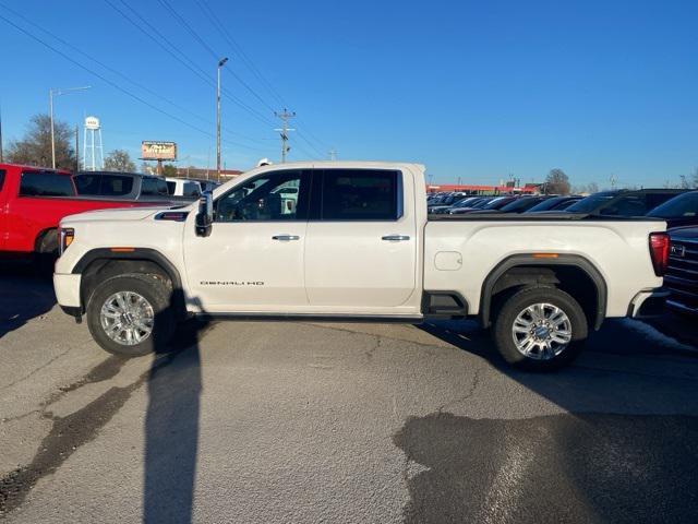
[[68, 171], [0, 164], [0, 255], [53, 254], [58, 223], [64, 216], [135, 205], [143, 203], [77, 196]]

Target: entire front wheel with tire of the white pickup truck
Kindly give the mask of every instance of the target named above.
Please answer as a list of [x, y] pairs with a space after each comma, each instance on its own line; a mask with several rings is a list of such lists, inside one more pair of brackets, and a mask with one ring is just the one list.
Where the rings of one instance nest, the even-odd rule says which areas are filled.
[[87, 301], [93, 338], [127, 357], [164, 350], [174, 330], [170, 295], [158, 275], [134, 273], [103, 282]]

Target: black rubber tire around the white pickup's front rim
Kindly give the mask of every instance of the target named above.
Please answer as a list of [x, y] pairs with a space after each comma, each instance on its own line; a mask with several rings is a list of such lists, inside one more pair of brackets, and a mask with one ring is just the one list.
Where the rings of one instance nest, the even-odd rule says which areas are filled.
[[[100, 322], [103, 305], [119, 291], [133, 291], [145, 298], [154, 313], [153, 331], [149, 336], [134, 345], [120, 344], [110, 338]], [[174, 331], [174, 314], [170, 303], [171, 288], [160, 276], [133, 273], [115, 276], [93, 290], [87, 300], [87, 326], [93, 338], [105, 350], [124, 357], [140, 357], [149, 353], [164, 353]]]

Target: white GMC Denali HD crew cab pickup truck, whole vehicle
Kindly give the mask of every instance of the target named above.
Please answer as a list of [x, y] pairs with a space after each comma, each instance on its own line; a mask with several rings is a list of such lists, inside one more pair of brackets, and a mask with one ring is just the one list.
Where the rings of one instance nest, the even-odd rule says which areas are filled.
[[477, 318], [512, 365], [569, 362], [609, 317], [661, 308], [664, 222], [428, 217], [424, 168], [263, 166], [170, 209], [64, 218], [53, 283], [108, 352], [167, 347], [178, 320]]

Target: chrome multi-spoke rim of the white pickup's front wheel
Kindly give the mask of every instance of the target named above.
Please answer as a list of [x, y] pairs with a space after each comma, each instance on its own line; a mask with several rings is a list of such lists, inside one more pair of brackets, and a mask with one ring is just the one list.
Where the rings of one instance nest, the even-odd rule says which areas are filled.
[[109, 338], [124, 346], [142, 343], [153, 332], [153, 306], [133, 291], [111, 295], [101, 306], [99, 323]]

